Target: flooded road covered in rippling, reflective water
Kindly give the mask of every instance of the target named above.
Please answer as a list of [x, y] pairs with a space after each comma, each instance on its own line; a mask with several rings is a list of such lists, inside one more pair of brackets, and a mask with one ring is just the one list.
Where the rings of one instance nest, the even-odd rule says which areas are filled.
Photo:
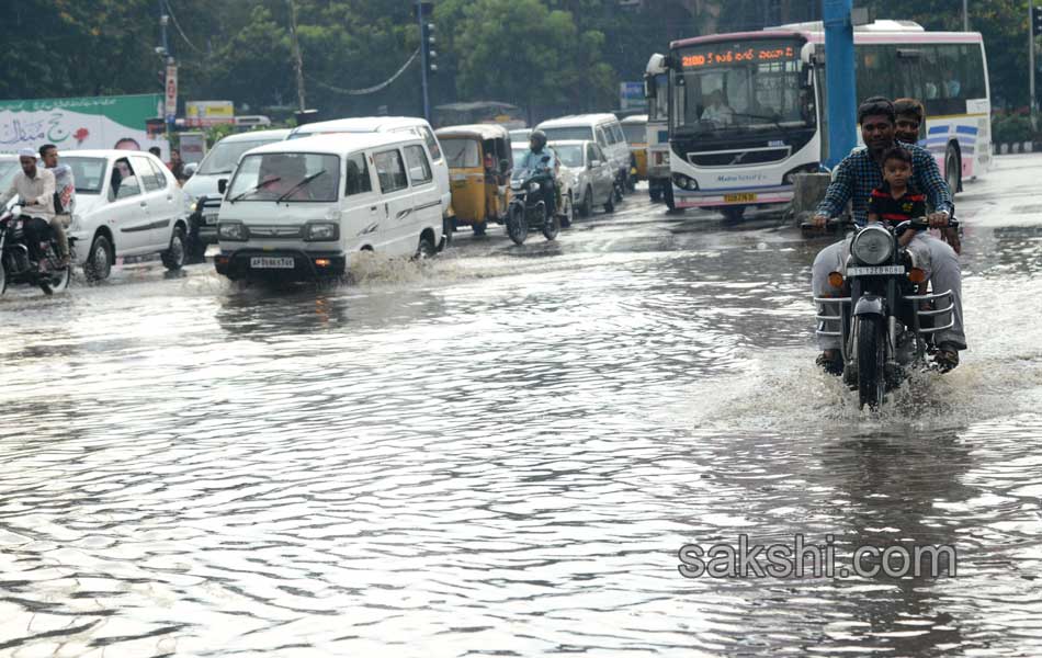
[[[997, 166], [971, 351], [881, 416], [813, 365], [827, 242], [639, 192], [352, 286], [5, 297], [0, 655], [1042, 655], [1042, 157]], [[741, 535], [958, 571], [681, 576]]]

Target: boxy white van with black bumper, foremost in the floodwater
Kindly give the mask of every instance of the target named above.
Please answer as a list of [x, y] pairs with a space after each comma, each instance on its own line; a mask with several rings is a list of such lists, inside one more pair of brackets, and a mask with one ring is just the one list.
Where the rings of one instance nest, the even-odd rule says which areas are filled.
[[231, 280], [335, 277], [361, 251], [433, 256], [441, 230], [422, 138], [313, 136], [242, 156], [217, 217], [214, 264]]

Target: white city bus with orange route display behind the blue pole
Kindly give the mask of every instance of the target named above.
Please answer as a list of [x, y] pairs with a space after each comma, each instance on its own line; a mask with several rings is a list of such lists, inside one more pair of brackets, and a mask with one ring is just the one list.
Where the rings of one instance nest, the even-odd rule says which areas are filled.
[[[987, 172], [992, 106], [978, 33], [876, 21], [854, 29], [854, 58], [859, 102], [924, 102], [919, 145], [953, 192]], [[790, 203], [793, 177], [820, 170], [828, 154], [820, 22], [677, 41], [665, 64], [677, 207], [739, 219], [747, 206]]]

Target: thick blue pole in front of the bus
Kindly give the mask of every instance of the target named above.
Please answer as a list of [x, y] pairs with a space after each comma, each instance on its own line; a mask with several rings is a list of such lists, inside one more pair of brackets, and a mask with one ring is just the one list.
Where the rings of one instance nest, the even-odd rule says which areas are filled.
[[827, 167], [839, 164], [858, 144], [853, 66], [852, 0], [824, 0], [825, 83], [828, 99]]

